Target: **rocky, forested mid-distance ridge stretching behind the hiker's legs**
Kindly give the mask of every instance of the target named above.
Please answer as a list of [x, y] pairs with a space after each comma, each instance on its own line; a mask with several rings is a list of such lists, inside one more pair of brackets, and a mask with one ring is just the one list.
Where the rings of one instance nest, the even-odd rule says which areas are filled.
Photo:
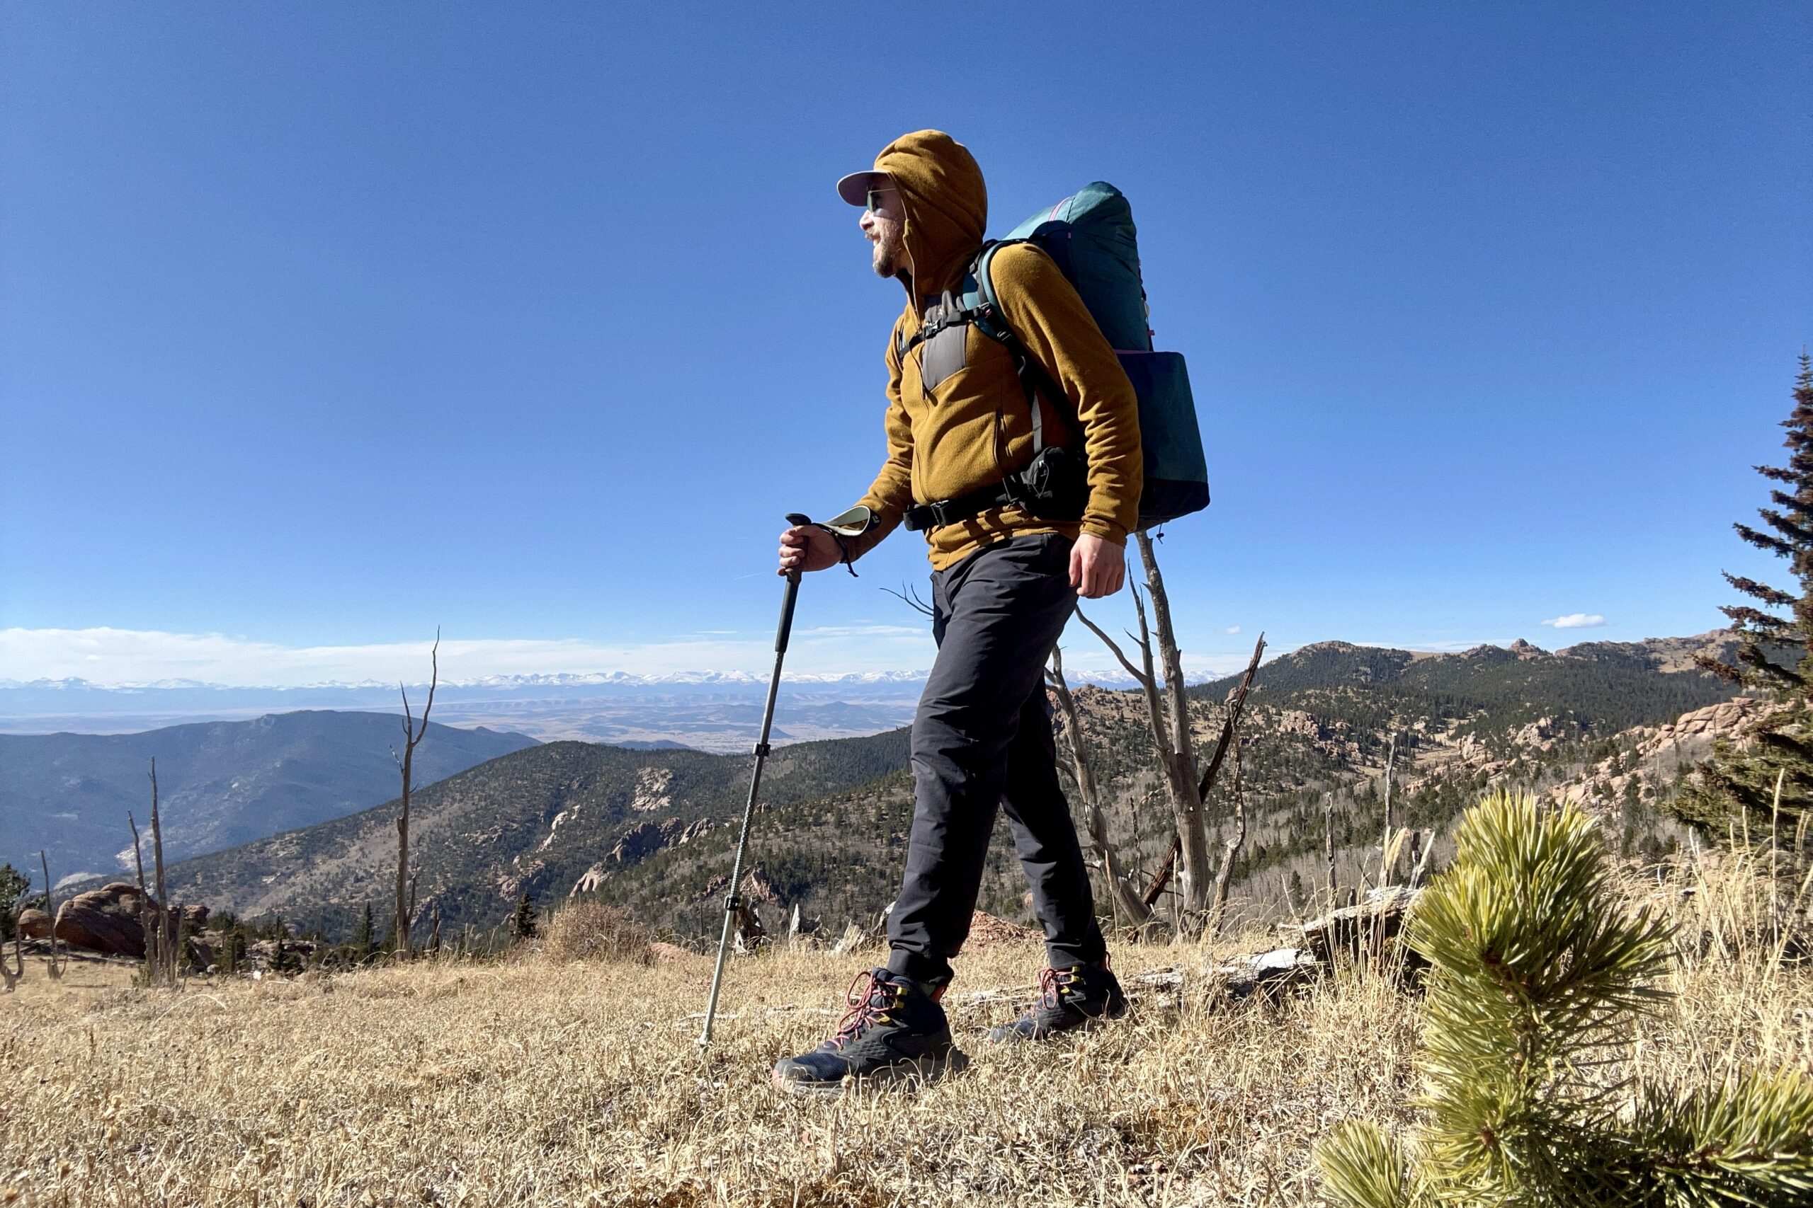
[[[1692, 665], [1692, 654], [1724, 641], [1708, 634], [1565, 652], [1512, 643], [1459, 654], [1316, 643], [1265, 663], [1249, 705], [1253, 837], [1236, 873], [1240, 893], [1276, 895], [1280, 877], [1298, 873], [1314, 884], [1325, 795], [1334, 797], [1345, 862], [1376, 842], [1374, 795], [1391, 737], [1400, 824], [1441, 826], [1494, 775], [1559, 782], [1588, 759], [1605, 759], [1606, 744], [1632, 728], [1730, 699], [1728, 685]], [[1198, 744], [1217, 732], [1231, 683], [1189, 690]], [[1144, 705], [1137, 694], [1093, 686], [1077, 701], [1110, 829], [1122, 855], [1149, 871], [1169, 844], [1169, 820], [1155, 797]], [[548, 902], [578, 889], [629, 906], [653, 925], [709, 933], [747, 775], [747, 755], [582, 743], [471, 768], [417, 799], [422, 906], [448, 924], [488, 927], [515, 895]], [[1220, 791], [1211, 810], [1226, 817]], [[834, 927], [872, 920], [892, 898], [910, 813], [906, 732], [787, 746], [771, 762], [751, 855], [763, 882], [807, 916]], [[238, 913], [277, 911], [343, 935], [366, 900], [379, 920], [388, 915], [393, 817], [395, 802], [386, 802], [187, 860], [172, 869], [172, 895]], [[986, 869], [983, 907], [1024, 918], [1012, 851], [995, 844]]]

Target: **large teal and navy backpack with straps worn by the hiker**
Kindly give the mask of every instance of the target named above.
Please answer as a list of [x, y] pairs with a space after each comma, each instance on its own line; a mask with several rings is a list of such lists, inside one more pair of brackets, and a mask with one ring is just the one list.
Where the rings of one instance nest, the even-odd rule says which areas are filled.
[[[1082, 502], [1088, 496], [1088, 487], [1081, 482], [1081, 449], [1046, 449], [1042, 440], [1035, 398], [1044, 393], [1046, 398], [1059, 404], [1064, 400], [1064, 391], [1008, 326], [990, 281], [988, 268], [995, 254], [1015, 243], [1041, 248], [1077, 288], [1082, 304], [1115, 350], [1115, 357], [1139, 397], [1146, 475], [1135, 527], [1149, 529], [1207, 507], [1209, 469], [1202, 455], [1202, 431], [1197, 426], [1189, 371], [1184, 368], [1182, 353], [1160, 353], [1151, 348], [1133, 208], [1126, 196], [1106, 181], [1084, 185], [1055, 206], [1039, 210], [1008, 232], [1004, 239], [983, 244], [963, 279], [959, 310], [950, 321], [974, 322], [983, 335], [1003, 344], [1013, 355], [1033, 415], [1033, 465], [1019, 475], [1010, 475], [1008, 482], [1003, 484], [1003, 498], [1021, 503], [1032, 502], [1035, 514], [1073, 518], [1068, 513], [1081, 516]], [[921, 331], [905, 342], [901, 351], [905, 353], [928, 335], [930, 331]], [[1023, 496], [1030, 496], [1030, 500]], [[959, 502], [946, 500], [946, 503]], [[970, 500], [966, 498], [963, 503], [970, 503]], [[1044, 505], [1041, 507], [1041, 503]], [[932, 509], [921, 511], [930, 513]], [[966, 511], [966, 507], [954, 507], [950, 514], [959, 511]], [[921, 527], [914, 525], [912, 520], [908, 518], [908, 527]], [[919, 520], [925, 525], [943, 523], [943, 518], [930, 514]]]

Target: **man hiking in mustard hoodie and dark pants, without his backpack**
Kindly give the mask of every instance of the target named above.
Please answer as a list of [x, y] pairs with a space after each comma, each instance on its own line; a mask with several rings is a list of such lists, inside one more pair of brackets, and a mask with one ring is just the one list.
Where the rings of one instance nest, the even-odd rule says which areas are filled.
[[[1008, 348], [963, 321], [957, 301], [983, 250], [988, 192], [948, 134], [888, 143], [874, 170], [843, 177], [838, 194], [863, 206], [876, 273], [906, 288], [887, 351], [888, 456], [859, 503], [867, 531], [787, 529], [780, 572], [854, 561], [905, 520], [930, 545], [939, 648], [912, 724], [916, 804], [888, 964], [858, 974], [830, 1040], [774, 1067], [790, 1090], [968, 1063], [939, 998], [970, 931], [997, 806], [1032, 882], [1050, 969], [1039, 1002], [990, 1040], [1042, 1040], [1126, 1012], [1057, 781], [1044, 663], [1077, 596], [1111, 596], [1126, 576], [1142, 476], [1133, 388], [1077, 290], [1033, 246], [1001, 248], [988, 275], [1001, 317], [1037, 360], [1026, 380], [1044, 389], [1023, 384]], [[995, 500], [1041, 447], [1086, 456], [1081, 520]]]

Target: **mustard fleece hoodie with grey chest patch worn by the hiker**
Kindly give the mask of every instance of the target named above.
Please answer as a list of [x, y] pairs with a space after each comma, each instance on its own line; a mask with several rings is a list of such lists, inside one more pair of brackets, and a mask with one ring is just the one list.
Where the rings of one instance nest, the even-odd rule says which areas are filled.
[[[876, 527], [856, 538], [852, 556], [874, 549], [914, 503], [948, 500], [1001, 482], [1032, 462], [1032, 415], [1013, 357], [965, 328], [963, 366], [932, 388], [921, 379], [926, 344], [899, 355], [901, 335], [923, 322], [926, 304], [957, 292], [963, 272], [983, 246], [988, 188], [968, 149], [939, 130], [894, 139], [876, 156], [876, 170], [899, 188], [906, 212], [910, 268], [899, 273], [906, 310], [888, 333], [888, 456], [861, 503]], [[1082, 522], [1039, 520], [1019, 507], [995, 507], [972, 520], [930, 529], [934, 569], [946, 569], [983, 545], [1032, 532], [1075, 538], [1093, 532], [1117, 545], [1139, 516], [1142, 456], [1139, 400], [1120, 362], [1090, 317], [1077, 290], [1039, 248], [1003, 248], [992, 281], [1013, 333], [1064, 389], [1053, 413], [1041, 395], [1044, 442], [1077, 444], [1090, 462], [1090, 503]]]

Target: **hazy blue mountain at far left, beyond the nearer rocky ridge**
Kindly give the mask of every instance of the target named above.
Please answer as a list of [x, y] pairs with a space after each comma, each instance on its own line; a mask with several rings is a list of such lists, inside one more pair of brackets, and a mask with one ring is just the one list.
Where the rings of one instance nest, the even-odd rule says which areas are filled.
[[[129, 868], [127, 811], [149, 837], [152, 757], [167, 860], [364, 810], [397, 791], [399, 721], [301, 710], [141, 733], [0, 733], [0, 860], [36, 868], [44, 848], [58, 880]], [[535, 744], [522, 733], [430, 723], [415, 781]]]

